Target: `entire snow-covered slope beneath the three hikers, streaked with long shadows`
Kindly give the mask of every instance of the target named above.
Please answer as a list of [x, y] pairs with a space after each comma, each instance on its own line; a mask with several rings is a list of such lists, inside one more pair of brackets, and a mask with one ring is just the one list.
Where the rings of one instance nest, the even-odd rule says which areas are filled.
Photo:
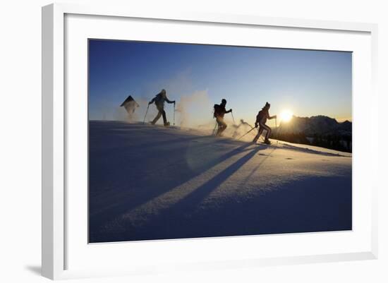
[[351, 154], [253, 136], [90, 121], [90, 242], [351, 229]]

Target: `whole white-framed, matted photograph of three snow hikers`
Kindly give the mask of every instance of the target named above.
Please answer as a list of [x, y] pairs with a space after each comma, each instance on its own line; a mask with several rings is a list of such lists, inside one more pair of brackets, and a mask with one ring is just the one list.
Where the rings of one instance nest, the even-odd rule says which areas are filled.
[[42, 274], [377, 258], [377, 26], [42, 8]]

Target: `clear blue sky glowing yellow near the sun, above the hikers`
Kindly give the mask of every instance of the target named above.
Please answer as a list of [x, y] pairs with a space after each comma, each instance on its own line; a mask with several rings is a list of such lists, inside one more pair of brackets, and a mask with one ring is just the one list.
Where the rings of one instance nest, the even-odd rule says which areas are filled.
[[[210, 121], [222, 98], [235, 119], [250, 122], [267, 101], [270, 114], [290, 109], [351, 120], [351, 53], [90, 40], [90, 119], [115, 119], [132, 95], [141, 121], [145, 102], [162, 88], [181, 102], [190, 124]], [[171, 119], [171, 105], [166, 112]]]

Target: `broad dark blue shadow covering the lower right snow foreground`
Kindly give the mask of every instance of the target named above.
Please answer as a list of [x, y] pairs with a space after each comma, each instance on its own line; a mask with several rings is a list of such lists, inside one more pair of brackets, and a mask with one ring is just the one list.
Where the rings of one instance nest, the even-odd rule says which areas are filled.
[[[193, 209], [189, 200], [184, 203]], [[351, 176], [308, 177], [267, 193], [257, 188], [255, 197], [225, 200], [191, 214], [185, 208], [181, 203], [140, 229], [111, 235], [111, 241], [351, 230]]]

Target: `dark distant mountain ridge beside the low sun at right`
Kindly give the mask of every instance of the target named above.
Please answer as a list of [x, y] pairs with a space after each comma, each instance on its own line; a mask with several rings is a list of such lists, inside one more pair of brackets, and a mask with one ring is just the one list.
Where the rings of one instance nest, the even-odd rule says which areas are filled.
[[289, 122], [281, 122], [278, 133], [284, 134], [299, 134], [303, 133], [305, 136], [314, 135], [341, 135], [351, 136], [352, 123], [344, 121], [339, 123], [336, 119], [328, 116], [312, 116], [312, 117], [298, 117], [293, 116]]

